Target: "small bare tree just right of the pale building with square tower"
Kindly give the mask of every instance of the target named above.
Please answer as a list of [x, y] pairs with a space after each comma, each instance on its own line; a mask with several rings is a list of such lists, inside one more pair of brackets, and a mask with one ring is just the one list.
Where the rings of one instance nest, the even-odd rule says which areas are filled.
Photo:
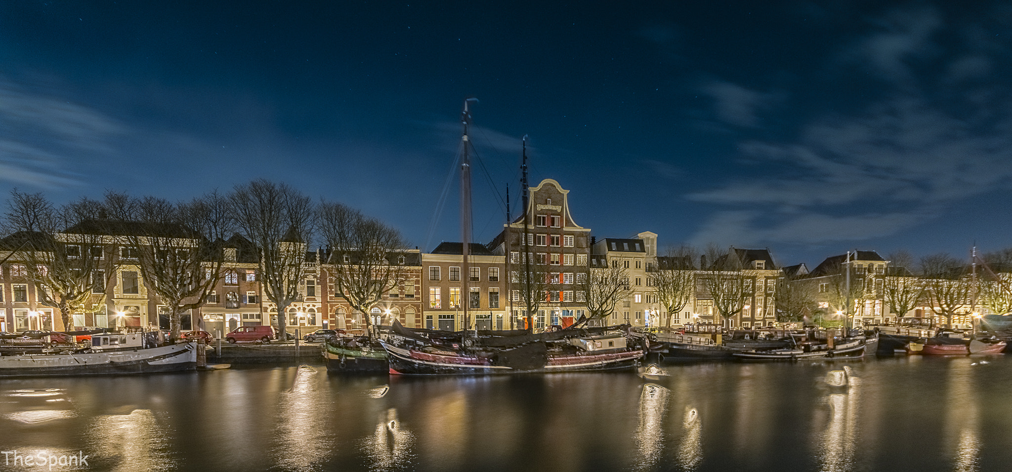
[[696, 273], [693, 261], [698, 251], [689, 246], [668, 248], [667, 255], [658, 257], [656, 271], [649, 274], [657, 291], [657, 299], [668, 313], [664, 325], [671, 327], [671, 318], [695, 297]]

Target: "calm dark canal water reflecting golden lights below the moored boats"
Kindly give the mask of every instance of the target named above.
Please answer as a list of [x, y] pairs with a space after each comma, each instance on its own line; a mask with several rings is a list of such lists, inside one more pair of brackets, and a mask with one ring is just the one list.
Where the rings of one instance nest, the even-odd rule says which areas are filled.
[[656, 380], [323, 366], [3, 380], [0, 470], [1012, 470], [1012, 359], [848, 362], [850, 386], [831, 387], [843, 365], [666, 364]]

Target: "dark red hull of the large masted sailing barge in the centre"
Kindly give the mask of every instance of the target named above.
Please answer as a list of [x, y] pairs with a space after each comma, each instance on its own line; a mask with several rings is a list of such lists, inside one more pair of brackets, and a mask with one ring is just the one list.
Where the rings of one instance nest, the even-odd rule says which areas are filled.
[[543, 367], [517, 369], [497, 366], [491, 358], [486, 357], [423, 352], [386, 342], [384, 347], [390, 355], [390, 373], [395, 375], [475, 376], [622, 371], [637, 369], [645, 355], [642, 349], [630, 349], [586, 356], [549, 356]]

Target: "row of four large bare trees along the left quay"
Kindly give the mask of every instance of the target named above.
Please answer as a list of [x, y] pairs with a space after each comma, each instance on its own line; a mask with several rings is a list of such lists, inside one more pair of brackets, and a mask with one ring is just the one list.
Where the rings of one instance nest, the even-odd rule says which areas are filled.
[[[297, 188], [265, 179], [212, 191], [185, 202], [107, 191], [56, 206], [43, 193], [14, 189], [3, 230], [7, 257], [23, 261], [38, 301], [59, 309], [64, 326], [90, 310], [124, 264], [166, 307], [171, 335], [181, 315], [206, 303], [222, 280], [224, 245], [233, 235], [252, 243], [257, 273], [277, 310], [284, 336], [286, 309], [300, 300], [306, 249], [318, 230], [331, 248], [338, 295], [367, 314], [386, 292], [403, 284], [396, 257], [407, 243], [394, 228], [339, 203], [314, 203]], [[117, 250], [118, 254], [103, 254]], [[94, 295], [93, 295], [94, 294]], [[370, 320], [365, 316], [366, 325]]]

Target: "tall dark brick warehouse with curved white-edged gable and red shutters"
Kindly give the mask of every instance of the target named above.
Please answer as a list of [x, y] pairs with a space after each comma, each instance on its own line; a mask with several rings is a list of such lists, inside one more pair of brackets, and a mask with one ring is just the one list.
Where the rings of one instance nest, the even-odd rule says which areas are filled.
[[590, 229], [576, 223], [569, 209], [569, 191], [556, 180], [546, 178], [529, 188], [523, 214], [505, 225], [502, 233], [489, 243], [497, 255], [506, 257], [509, 272], [509, 308], [511, 326], [523, 327], [526, 305], [521, 290], [513, 286], [521, 278], [526, 260], [545, 272], [549, 282], [544, 301], [533, 313], [534, 328], [569, 325], [586, 312], [586, 305], [576, 299], [576, 272], [586, 270], [590, 255]]

